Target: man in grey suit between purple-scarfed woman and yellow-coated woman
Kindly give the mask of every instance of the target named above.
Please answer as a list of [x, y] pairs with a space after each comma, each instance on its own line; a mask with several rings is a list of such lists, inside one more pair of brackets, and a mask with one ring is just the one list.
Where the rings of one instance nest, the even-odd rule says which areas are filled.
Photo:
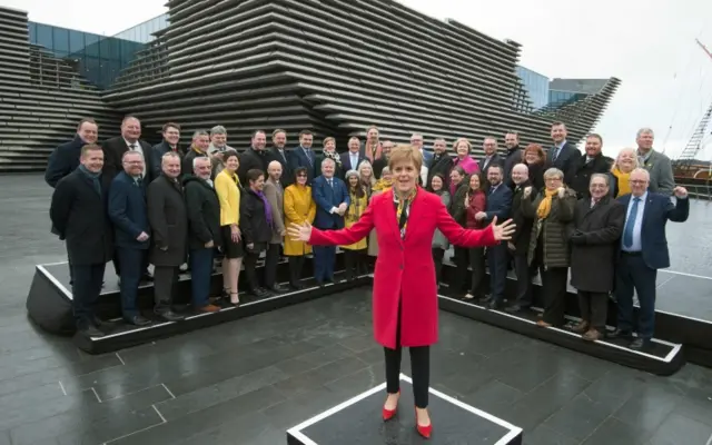
[[265, 287], [271, 291], [279, 293], [284, 290], [277, 283], [277, 263], [279, 261], [279, 248], [285, 236], [285, 216], [284, 216], [284, 189], [281, 188], [281, 164], [273, 160], [267, 166], [267, 180], [263, 192], [269, 202], [273, 215], [271, 239], [265, 258]]

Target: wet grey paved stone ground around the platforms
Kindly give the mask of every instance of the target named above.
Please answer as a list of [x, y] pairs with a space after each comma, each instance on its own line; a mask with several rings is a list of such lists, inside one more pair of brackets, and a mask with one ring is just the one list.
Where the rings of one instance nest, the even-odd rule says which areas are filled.
[[[49, 196], [40, 176], [0, 177], [0, 445], [285, 444], [288, 427], [383, 382], [368, 289], [118, 354], [38, 332], [24, 315], [33, 266], [65, 259]], [[711, 208], [671, 225], [673, 269], [711, 275], [699, 248]], [[523, 427], [530, 445], [712, 435], [712, 369], [655, 377], [446, 313], [432, 366], [433, 387]]]

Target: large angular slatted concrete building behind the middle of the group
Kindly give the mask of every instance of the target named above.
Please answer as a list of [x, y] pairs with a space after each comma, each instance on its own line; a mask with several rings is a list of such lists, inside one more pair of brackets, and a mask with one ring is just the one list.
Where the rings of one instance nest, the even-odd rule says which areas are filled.
[[[170, 24], [102, 93], [136, 115], [145, 137], [167, 121], [184, 137], [220, 123], [247, 147], [251, 130], [301, 129], [345, 149], [376, 125], [382, 139], [414, 131], [449, 142], [487, 135], [548, 144], [563, 120], [570, 139], [591, 130], [620, 81], [560, 108], [533, 111], [516, 73], [520, 44], [442, 21], [394, 0], [171, 0]], [[105, 134], [102, 132], [101, 138]], [[503, 144], [502, 144], [503, 145]]]

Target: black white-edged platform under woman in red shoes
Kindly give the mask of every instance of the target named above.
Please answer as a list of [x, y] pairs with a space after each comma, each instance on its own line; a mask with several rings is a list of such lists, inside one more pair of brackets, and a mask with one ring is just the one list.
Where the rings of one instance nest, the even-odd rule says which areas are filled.
[[398, 414], [388, 422], [380, 417], [385, 393], [383, 383], [305, 421], [287, 432], [287, 444], [522, 444], [522, 428], [433, 388], [428, 405], [433, 435], [424, 439], [415, 431], [411, 378], [400, 374]]

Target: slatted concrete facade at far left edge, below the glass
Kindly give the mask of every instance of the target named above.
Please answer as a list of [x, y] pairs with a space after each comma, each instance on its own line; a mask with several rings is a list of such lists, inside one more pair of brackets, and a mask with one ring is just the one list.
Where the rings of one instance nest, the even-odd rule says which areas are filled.
[[101, 91], [29, 43], [27, 12], [0, 8], [0, 171], [43, 170], [85, 117], [97, 120], [101, 138], [118, 134], [120, 115]]

